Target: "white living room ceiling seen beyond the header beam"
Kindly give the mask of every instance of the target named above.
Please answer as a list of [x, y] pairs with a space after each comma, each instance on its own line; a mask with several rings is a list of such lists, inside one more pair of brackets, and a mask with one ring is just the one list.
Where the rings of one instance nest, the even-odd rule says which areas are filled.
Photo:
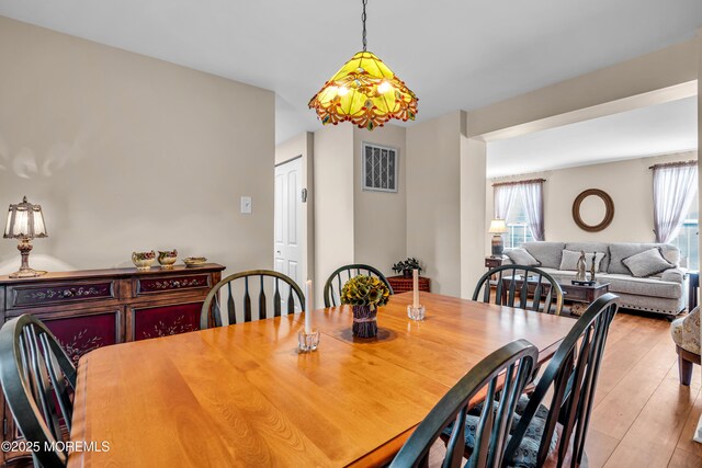
[[487, 176], [524, 174], [698, 147], [698, 98], [488, 144]]

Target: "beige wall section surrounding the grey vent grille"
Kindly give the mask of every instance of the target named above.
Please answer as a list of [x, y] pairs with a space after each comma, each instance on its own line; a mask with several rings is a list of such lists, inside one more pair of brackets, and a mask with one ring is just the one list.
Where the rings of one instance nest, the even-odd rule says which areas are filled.
[[[373, 132], [353, 129], [354, 260], [395, 274], [394, 263], [407, 258], [406, 132], [386, 124]], [[369, 192], [362, 186], [363, 142], [398, 149], [397, 193]], [[410, 255], [412, 255], [410, 253]]]

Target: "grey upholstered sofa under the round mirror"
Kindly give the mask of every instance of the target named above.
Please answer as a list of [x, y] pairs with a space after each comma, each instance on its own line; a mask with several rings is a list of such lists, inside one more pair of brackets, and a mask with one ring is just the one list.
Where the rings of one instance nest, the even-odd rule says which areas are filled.
[[[621, 298], [620, 307], [667, 316], [676, 316], [686, 308], [686, 272], [678, 266], [680, 251], [675, 246], [630, 242], [524, 242], [521, 248], [540, 262], [537, 267], [559, 282], [570, 282], [576, 275], [575, 271], [559, 270], [564, 250], [603, 252], [604, 258], [596, 277], [601, 283], [610, 283], [610, 292]], [[659, 248], [663, 258], [675, 267], [653, 276], [633, 276], [622, 261], [652, 248]], [[506, 254], [509, 252], [506, 251]], [[509, 263], [511, 261], [506, 258], [503, 264]]]

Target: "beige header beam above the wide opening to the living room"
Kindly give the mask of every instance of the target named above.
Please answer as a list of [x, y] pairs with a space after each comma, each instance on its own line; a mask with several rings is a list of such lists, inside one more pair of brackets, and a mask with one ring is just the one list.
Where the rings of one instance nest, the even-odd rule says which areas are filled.
[[467, 136], [509, 138], [694, 95], [698, 47], [690, 39], [473, 110]]

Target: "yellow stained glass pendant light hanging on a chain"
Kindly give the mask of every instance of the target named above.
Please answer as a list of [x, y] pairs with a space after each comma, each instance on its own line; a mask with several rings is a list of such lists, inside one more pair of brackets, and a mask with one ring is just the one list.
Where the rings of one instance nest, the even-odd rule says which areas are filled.
[[375, 54], [366, 50], [363, 1], [363, 50], [351, 57], [317, 94], [309, 109], [324, 125], [349, 121], [359, 128], [374, 129], [390, 118], [414, 121], [417, 96]]

